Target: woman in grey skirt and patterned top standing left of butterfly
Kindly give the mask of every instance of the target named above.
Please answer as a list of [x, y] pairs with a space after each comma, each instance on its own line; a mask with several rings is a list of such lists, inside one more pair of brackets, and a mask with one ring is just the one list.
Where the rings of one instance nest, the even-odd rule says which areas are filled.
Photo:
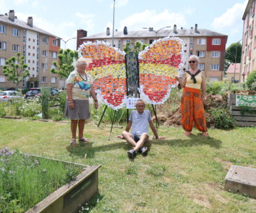
[[92, 77], [86, 73], [89, 59], [81, 57], [76, 63], [76, 69], [70, 73], [67, 84], [67, 101], [65, 115], [71, 119], [72, 139], [70, 144], [76, 145], [76, 129], [80, 143], [89, 142], [84, 138], [84, 122], [90, 118], [89, 96], [94, 99], [94, 107], [98, 108], [98, 100], [92, 87]]

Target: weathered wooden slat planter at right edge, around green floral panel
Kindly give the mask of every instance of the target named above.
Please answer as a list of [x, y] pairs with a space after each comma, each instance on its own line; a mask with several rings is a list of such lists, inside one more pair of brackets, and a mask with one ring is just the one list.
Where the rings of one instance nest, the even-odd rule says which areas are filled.
[[255, 111], [254, 113], [245, 112], [244, 116], [241, 114], [241, 107], [235, 105], [234, 94], [229, 94], [229, 112], [237, 120], [237, 126], [256, 126], [256, 107], [250, 107], [250, 110]]

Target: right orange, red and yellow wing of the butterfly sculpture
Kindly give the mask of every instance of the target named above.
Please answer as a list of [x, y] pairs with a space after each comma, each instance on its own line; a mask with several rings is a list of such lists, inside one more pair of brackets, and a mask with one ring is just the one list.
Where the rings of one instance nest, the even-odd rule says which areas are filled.
[[139, 56], [140, 94], [147, 103], [164, 103], [178, 84], [175, 75], [184, 64], [184, 44], [178, 38], [159, 39]]

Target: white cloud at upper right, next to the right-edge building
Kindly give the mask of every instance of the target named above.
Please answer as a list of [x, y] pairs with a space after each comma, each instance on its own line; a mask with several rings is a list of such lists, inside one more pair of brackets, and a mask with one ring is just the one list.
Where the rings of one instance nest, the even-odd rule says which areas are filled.
[[212, 27], [217, 31], [230, 31], [231, 33], [237, 33], [241, 31], [243, 13], [247, 5], [247, 0], [244, 3], [236, 3], [233, 7], [227, 9], [221, 16], [216, 17], [211, 24]]

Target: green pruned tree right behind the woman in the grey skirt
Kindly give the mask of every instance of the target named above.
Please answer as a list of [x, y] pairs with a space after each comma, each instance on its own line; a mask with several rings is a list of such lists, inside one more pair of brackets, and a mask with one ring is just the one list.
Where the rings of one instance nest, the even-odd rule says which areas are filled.
[[59, 55], [57, 57], [59, 58], [59, 65], [57, 61], [53, 61], [53, 65], [57, 69], [51, 69], [51, 73], [58, 74], [61, 78], [68, 78], [70, 73], [74, 71], [72, 63], [78, 59], [78, 51], [59, 49]]

